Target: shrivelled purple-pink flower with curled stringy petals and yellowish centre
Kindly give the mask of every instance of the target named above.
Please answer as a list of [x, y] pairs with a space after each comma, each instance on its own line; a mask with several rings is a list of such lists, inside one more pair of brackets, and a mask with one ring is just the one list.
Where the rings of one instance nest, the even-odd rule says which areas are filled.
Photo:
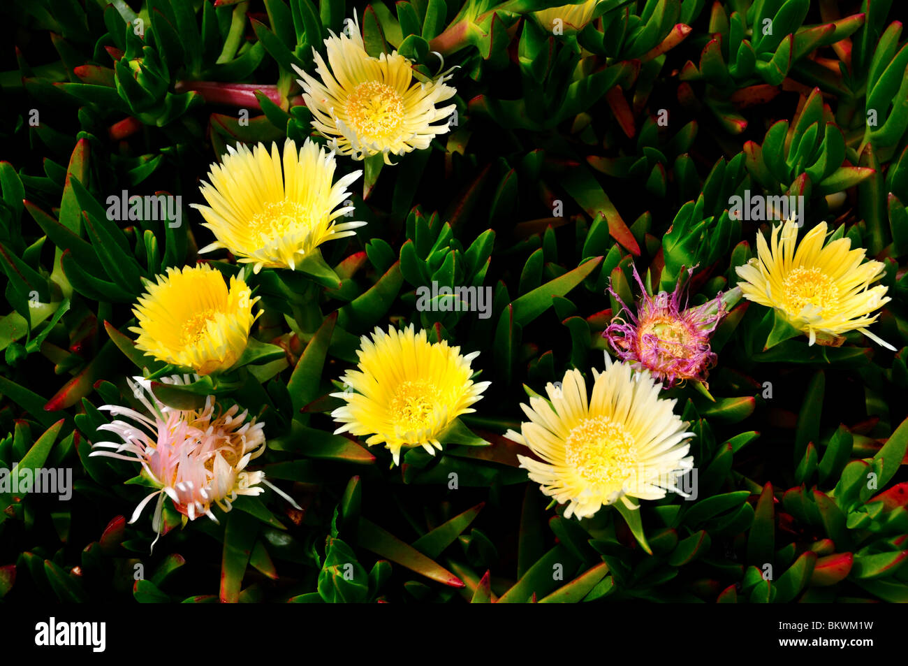
[[[716, 353], [709, 338], [727, 313], [722, 293], [703, 305], [687, 307], [687, 288], [694, 269], [682, 270], [675, 291], [650, 296], [634, 267], [634, 278], [640, 286], [637, 315], [631, 312], [617, 293], [608, 287], [621, 311], [602, 333], [621, 361], [646, 368], [671, 388], [676, 383], [694, 380], [706, 387], [706, 375], [716, 364]], [[737, 287], [735, 287], [737, 289]], [[736, 300], [736, 299], [735, 299]], [[682, 304], [683, 301], [683, 304]], [[621, 318], [627, 312], [629, 322]]]

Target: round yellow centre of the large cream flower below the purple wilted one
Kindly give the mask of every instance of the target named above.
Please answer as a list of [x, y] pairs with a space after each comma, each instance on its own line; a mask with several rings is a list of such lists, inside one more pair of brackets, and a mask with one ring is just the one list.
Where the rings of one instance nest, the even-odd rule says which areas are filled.
[[607, 416], [584, 419], [565, 440], [568, 464], [585, 481], [620, 490], [637, 462], [634, 438]]

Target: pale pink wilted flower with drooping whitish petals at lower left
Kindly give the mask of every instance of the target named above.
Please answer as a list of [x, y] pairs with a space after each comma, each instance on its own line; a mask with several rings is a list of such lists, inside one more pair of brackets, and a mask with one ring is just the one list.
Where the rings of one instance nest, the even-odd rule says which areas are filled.
[[[231, 502], [238, 496], [265, 492], [262, 484], [300, 508], [290, 496], [265, 481], [264, 472], [246, 470], [249, 462], [265, 450], [262, 423], [256, 423], [255, 419], [246, 422], [248, 411], [238, 413], [240, 408], [235, 404], [224, 411], [211, 395], [205, 399], [202, 409], [175, 409], [154, 396], [149, 380], [143, 377], [133, 380], [135, 383], [128, 379], [126, 382], [148, 415], [115, 404], [99, 407], [113, 416], [126, 416], [134, 423], [116, 420], [99, 426], [98, 430], [114, 432], [123, 441], [95, 442], [93, 448], [100, 450], [90, 454], [139, 462], [145, 482], [158, 489], [139, 502], [130, 522], [135, 522], [145, 505], [157, 497], [153, 524], [160, 536], [164, 495], [190, 521], [207, 515], [217, 522], [212, 505], [229, 512]], [[191, 380], [187, 375], [159, 381], [183, 384]]]

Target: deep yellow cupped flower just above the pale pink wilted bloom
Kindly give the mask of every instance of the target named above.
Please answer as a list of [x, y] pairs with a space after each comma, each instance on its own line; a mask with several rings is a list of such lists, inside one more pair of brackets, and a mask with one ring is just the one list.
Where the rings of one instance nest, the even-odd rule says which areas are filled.
[[252, 323], [252, 292], [242, 280], [230, 279], [208, 264], [167, 269], [133, 309], [139, 325], [135, 346], [164, 363], [200, 374], [226, 370], [246, 349]]

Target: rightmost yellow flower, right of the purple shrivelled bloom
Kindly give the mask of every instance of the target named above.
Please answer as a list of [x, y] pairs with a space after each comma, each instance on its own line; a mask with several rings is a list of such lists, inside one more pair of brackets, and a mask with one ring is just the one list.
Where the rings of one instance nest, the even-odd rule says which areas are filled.
[[860, 331], [894, 352], [866, 328], [879, 316], [871, 313], [891, 300], [885, 286], [870, 286], [883, 276], [883, 263], [864, 262], [866, 251], [852, 250], [849, 238], [824, 247], [825, 238], [826, 223], [821, 223], [797, 244], [794, 220], [773, 228], [772, 249], [757, 234], [757, 257], [735, 268], [745, 298], [775, 308], [810, 344], [838, 346], [843, 333]]

